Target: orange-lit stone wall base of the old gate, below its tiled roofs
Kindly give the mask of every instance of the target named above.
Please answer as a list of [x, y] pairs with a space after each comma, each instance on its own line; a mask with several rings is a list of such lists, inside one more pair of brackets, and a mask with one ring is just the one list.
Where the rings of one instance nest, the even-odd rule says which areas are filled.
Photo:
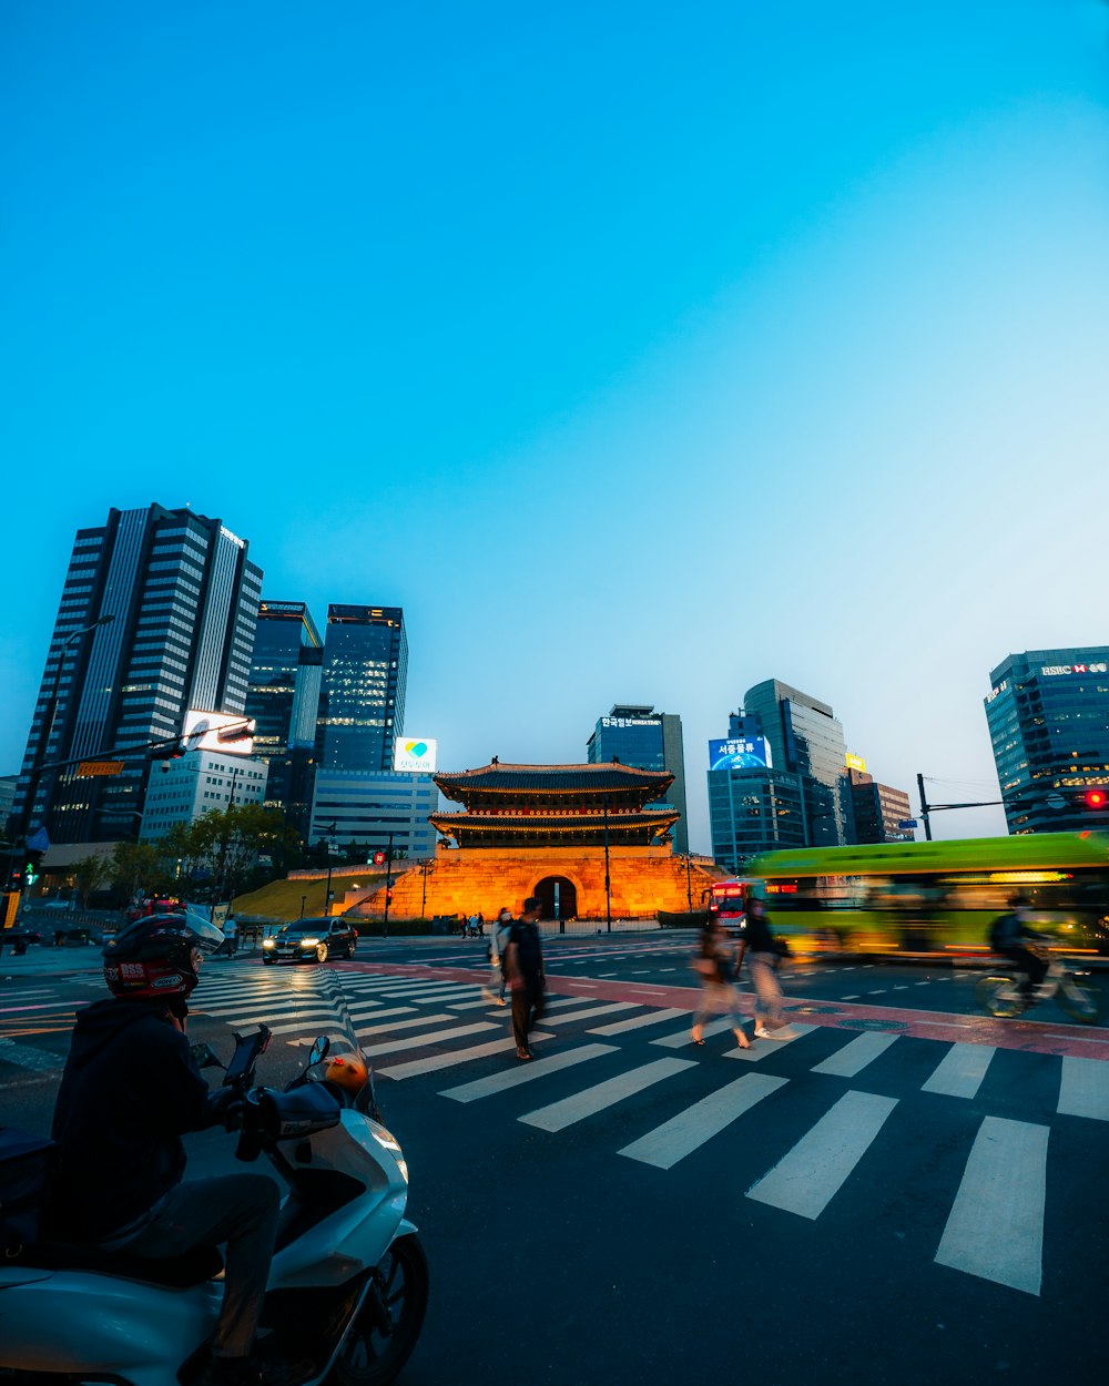
[[[394, 868], [399, 872], [401, 866]], [[394, 919], [430, 919], [435, 915], [475, 915], [496, 918], [502, 908], [513, 915], [524, 900], [548, 876], [564, 876], [577, 891], [578, 919], [604, 918], [604, 848], [439, 848], [424, 873], [409, 866], [394, 876]], [[686, 859], [668, 848], [614, 847], [609, 851], [609, 877], [613, 919], [649, 919], [660, 909], [681, 912], [689, 895], [693, 908], [701, 905], [701, 893], [721, 872], [707, 859], [693, 859], [686, 883]], [[426, 900], [424, 900], [426, 891]], [[359, 913], [380, 915], [385, 908], [383, 888], [349, 893], [344, 908], [356, 905]]]

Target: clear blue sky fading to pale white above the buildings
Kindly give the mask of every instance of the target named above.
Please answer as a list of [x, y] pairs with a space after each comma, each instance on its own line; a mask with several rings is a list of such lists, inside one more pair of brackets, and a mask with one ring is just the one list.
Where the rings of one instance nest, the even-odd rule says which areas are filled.
[[6, 772], [112, 505], [403, 606], [449, 768], [681, 714], [704, 850], [751, 685], [991, 798], [990, 668], [1109, 638], [1099, 0], [8, 0], [0, 130]]

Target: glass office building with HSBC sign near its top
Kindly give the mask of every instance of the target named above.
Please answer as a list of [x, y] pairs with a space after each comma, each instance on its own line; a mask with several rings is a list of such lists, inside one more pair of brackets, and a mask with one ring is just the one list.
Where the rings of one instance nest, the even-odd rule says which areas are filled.
[[1109, 826], [1085, 801], [1109, 786], [1109, 646], [1011, 654], [984, 705], [1011, 833]]

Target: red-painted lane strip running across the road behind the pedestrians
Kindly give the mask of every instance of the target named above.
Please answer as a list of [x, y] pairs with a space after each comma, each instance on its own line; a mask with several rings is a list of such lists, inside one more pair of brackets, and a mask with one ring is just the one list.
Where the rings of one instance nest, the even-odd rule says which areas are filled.
[[[488, 967], [430, 967], [427, 963], [349, 963], [376, 976], [424, 977], [435, 981], [488, 983]], [[546, 976], [548, 991], [557, 997], [596, 1001], [631, 1001], [643, 1006], [674, 1010], [697, 1009], [699, 987], [654, 987], [646, 983], [592, 980], [589, 977]], [[740, 992], [744, 1015], [754, 1015], [754, 995]], [[811, 1009], [810, 1009], [811, 1008]], [[1058, 1053], [1109, 1062], [1109, 1028], [1101, 1026], [1048, 1024], [1042, 1020], [995, 1020], [993, 1016], [959, 1016], [947, 1010], [907, 1010], [898, 1006], [859, 1006], [850, 1001], [805, 1001], [792, 997], [785, 1013], [798, 1024], [829, 1026], [833, 1030], [897, 1030], [914, 1040], [941, 1040], [944, 1044], [988, 1044], [997, 1049], [1027, 1053]], [[883, 1024], [883, 1021], [886, 1024]]]

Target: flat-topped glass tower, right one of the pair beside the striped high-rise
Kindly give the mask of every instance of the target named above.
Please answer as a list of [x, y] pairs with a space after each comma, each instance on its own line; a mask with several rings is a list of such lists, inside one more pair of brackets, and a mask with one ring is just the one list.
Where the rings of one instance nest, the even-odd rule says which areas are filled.
[[329, 606], [316, 726], [317, 771], [392, 771], [405, 723], [401, 607]]

